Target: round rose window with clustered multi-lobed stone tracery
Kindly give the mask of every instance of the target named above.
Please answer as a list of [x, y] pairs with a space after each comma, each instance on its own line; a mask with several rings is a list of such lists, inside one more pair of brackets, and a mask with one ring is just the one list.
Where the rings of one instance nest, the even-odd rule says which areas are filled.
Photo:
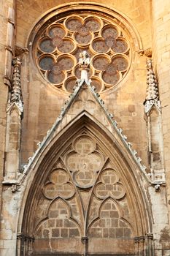
[[49, 83], [72, 92], [83, 50], [90, 55], [88, 77], [97, 91], [116, 86], [128, 72], [131, 50], [125, 31], [100, 15], [70, 15], [47, 26], [36, 41], [36, 64]]

